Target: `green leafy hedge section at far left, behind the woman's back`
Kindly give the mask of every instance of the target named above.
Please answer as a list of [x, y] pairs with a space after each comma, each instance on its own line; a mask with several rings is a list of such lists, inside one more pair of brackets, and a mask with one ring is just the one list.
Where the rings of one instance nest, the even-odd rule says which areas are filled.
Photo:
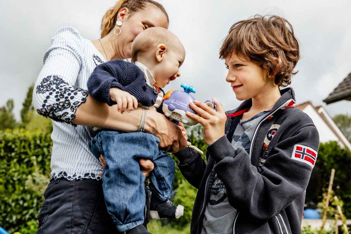
[[50, 178], [52, 140], [43, 131], [0, 131], [0, 224], [9, 233], [35, 220]]

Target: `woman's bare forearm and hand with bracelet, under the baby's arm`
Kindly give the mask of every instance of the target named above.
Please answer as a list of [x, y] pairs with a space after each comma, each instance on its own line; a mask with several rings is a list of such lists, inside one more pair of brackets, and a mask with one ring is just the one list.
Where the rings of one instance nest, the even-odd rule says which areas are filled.
[[[140, 107], [121, 114], [117, 110], [117, 105], [108, 106], [88, 95], [86, 101], [77, 108], [72, 123], [135, 132], [138, 130], [142, 114], [143, 110]], [[186, 145], [186, 139], [180, 128], [163, 114], [151, 109], [147, 110], [145, 132], [157, 136], [160, 139], [159, 147], [164, 151], [178, 152]]]

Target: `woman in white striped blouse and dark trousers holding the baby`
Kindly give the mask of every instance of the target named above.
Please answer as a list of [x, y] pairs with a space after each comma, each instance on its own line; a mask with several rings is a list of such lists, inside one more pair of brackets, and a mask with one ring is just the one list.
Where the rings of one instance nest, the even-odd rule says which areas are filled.
[[[38, 113], [54, 120], [51, 180], [37, 233], [118, 233], [102, 195], [102, 166], [88, 142], [94, 134], [92, 127], [137, 131], [144, 122], [143, 111], [137, 108], [121, 114], [117, 105], [94, 100], [86, 91], [87, 80], [98, 64], [130, 58], [135, 36], [153, 26], [168, 27], [162, 5], [152, 0], [121, 0], [102, 18], [101, 39], [83, 39], [72, 27], [54, 34], [33, 91]], [[165, 151], [176, 152], [186, 145], [179, 127], [157, 112], [147, 112], [144, 128], [160, 139]], [[140, 165], [146, 176], [153, 169], [151, 161], [141, 160]]]

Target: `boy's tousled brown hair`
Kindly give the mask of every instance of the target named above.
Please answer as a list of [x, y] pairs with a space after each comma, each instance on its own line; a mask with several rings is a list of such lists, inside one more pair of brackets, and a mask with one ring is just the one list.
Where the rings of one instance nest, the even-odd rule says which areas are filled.
[[255, 15], [235, 23], [229, 30], [219, 52], [225, 59], [236, 54], [275, 76], [275, 84], [285, 87], [291, 83], [293, 69], [300, 59], [299, 43], [291, 24], [276, 15]]

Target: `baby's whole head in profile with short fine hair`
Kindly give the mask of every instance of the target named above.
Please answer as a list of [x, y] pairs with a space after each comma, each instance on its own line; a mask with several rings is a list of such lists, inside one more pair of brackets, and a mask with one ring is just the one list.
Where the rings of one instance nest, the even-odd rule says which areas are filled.
[[132, 62], [143, 63], [160, 88], [180, 76], [184, 58], [185, 49], [179, 38], [165, 28], [147, 28], [132, 44]]

